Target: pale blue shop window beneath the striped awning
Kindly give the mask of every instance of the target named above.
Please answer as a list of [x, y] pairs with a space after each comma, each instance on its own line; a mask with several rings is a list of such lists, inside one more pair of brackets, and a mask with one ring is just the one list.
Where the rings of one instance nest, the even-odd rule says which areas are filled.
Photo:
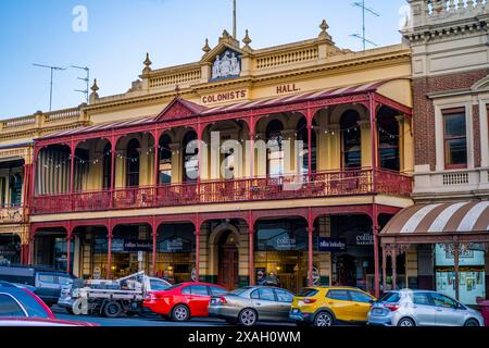
[[[435, 247], [437, 291], [455, 297], [454, 254], [443, 245]], [[476, 304], [477, 297], [486, 297], [485, 251], [462, 248], [459, 261], [460, 301]]]

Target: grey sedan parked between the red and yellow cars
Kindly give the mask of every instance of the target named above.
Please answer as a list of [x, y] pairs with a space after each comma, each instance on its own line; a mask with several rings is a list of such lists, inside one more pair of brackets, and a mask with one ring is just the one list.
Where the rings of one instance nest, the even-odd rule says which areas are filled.
[[253, 326], [259, 321], [290, 321], [293, 294], [268, 286], [247, 286], [222, 296], [213, 296], [209, 316], [228, 323]]

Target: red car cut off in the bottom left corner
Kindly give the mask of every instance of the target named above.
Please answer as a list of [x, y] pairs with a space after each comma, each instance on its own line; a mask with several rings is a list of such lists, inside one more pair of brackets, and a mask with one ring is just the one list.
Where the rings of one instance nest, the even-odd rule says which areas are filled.
[[0, 281], [0, 326], [96, 326], [58, 320], [48, 306], [25, 287]]

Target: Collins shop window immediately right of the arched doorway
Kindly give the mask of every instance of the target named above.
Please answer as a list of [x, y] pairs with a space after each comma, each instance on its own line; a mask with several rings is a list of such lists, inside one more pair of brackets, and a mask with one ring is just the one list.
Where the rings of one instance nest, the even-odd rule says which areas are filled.
[[[308, 282], [305, 221], [259, 222], [255, 234], [256, 284], [277, 285], [297, 293]], [[317, 240], [313, 243], [317, 246]]]

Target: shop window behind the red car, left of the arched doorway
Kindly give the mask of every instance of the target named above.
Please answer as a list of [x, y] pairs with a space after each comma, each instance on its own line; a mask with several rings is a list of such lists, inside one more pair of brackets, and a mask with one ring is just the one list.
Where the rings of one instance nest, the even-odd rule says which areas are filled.
[[156, 240], [156, 275], [173, 284], [191, 281], [195, 250], [192, 224], [161, 226]]

